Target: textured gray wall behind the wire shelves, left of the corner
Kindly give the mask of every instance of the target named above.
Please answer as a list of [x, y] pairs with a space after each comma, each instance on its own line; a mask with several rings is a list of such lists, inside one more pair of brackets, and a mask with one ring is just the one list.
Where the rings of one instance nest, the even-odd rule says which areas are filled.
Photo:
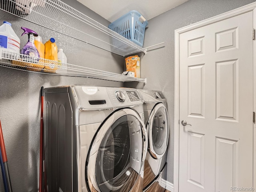
[[[105, 26], [110, 23], [76, 0], [66, 0], [66, 2], [72, 2], [71, 6]], [[122, 56], [117, 56], [68, 36], [57, 34], [0, 11], [0, 24], [3, 21], [12, 23], [12, 27], [19, 37], [22, 34], [20, 29], [22, 26], [38, 32], [42, 36], [43, 42], [54, 37], [58, 48], [63, 48], [70, 64], [116, 73], [123, 71], [124, 58]], [[20, 40], [22, 48], [26, 44], [28, 36], [24, 35], [20, 37]], [[122, 82], [38, 74], [0, 67], [0, 120], [14, 192], [35, 192], [38, 190], [40, 88], [41, 86], [52, 87], [68, 84], [118, 87], [124, 85]], [[0, 192], [4, 192], [2, 174], [0, 174]]]

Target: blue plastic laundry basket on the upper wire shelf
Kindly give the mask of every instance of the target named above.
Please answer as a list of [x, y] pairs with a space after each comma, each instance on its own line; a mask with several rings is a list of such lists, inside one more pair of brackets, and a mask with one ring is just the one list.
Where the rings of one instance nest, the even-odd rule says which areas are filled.
[[144, 17], [133, 10], [112, 22], [108, 28], [142, 47], [147, 25]]

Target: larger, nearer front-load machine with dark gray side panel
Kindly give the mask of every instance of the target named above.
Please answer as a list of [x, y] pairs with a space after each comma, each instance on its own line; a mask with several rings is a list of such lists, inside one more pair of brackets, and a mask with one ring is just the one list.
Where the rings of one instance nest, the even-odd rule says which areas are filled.
[[136, 89], [44, 89], [48, 192], [142, 191], [147, 132]]

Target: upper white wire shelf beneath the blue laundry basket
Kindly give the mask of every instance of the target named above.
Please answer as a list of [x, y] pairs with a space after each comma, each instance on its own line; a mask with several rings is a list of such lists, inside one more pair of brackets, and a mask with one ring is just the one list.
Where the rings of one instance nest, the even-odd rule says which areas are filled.
[[16, 0], [16, 2], [1, 0], [0, 9], [121, 56], [136, 52], [146, 53], [146, 49], [60, 0], [30, 0], [30, 2], [36, 6], [28, 7], [24, 4], [24, 0]]

